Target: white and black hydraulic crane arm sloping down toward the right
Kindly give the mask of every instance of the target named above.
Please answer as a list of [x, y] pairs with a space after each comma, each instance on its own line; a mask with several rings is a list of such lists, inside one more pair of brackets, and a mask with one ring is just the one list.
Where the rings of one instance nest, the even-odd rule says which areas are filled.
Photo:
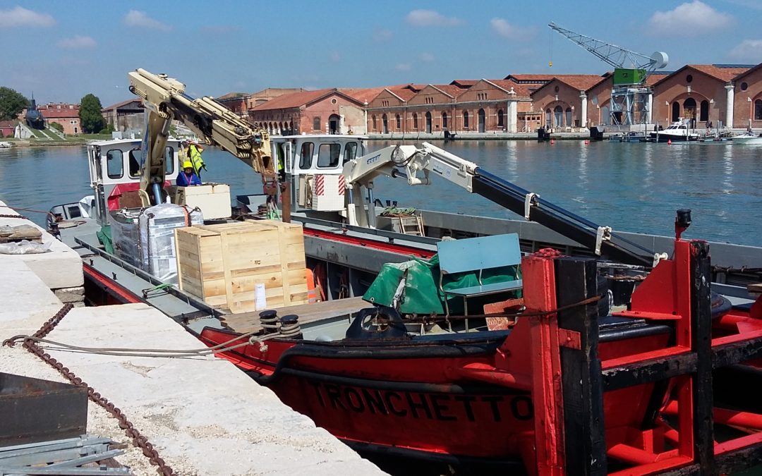
[[[400, 170], [400, 169], [404, 169]], [[344, 177], [351, 192], [348, 218], [351, 225], [367, 226], [365, 204], [360, 186], [373, 189], [373, 180], [379, 176], [405, 177], [410, 185], [431, 184], [429, 173], [443, 177], [463, 187], [469, 193], [484, 196], [527, 220], [538, 222], [565, 237], [577, 241], [596, 254], [626, 264], [651, 266], [654, 252], [622, 238], [594, 222], [577, 216], [536, 193], [484, 171], [479, 165], [459, 158], [435, 145], [424, 142], [415, 145], [396, 145], [348, 161]], [[370, 204], [373, 209], [373, 204]]]

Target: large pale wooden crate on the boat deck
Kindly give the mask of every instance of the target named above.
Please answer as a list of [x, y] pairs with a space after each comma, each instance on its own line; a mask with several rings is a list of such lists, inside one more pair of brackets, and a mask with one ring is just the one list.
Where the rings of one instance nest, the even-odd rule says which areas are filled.
[[[233, 313], [307, 302], [302, 225], [247, 220], [177, 228], [180, 289]], [[257, 303], [264, 285], [266, 303]]]

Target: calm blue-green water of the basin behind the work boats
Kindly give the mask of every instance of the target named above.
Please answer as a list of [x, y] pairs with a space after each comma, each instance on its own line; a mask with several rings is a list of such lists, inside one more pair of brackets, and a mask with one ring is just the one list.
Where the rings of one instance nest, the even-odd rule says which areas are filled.
[[[762, 246], [762, 147], [463, 141], [446, 149], [600, 225], [671, 235], [675, 209], [690, 208], [690, 237]], [[261, 193], [259, 176], [232, 155], [207, 149], [204, 158], [205, 180], [230, 184], [233, 196]], [[0, 178], [0, 200], [14, 206], [47, 210], [90, 193], [84, 147], [0, 149]], [[445, 180], [408, 187], [383, 178], [375, 193], [406, 206], [513, 216]]]

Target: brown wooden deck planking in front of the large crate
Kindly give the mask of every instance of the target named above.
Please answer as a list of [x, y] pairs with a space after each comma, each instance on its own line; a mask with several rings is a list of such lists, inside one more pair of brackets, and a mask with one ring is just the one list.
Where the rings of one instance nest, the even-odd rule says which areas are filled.
[[[295, 314], [299, 316], [299, 324], [320, 321], [326, 318], [334, 318], [341, 315], [354, 315], [363, 308], [373, 307], [370, 302], [363, 301], [361, 297], [335, 299], [333, 301], [314, 302], [312, 304], [290, 305], [274, 308], [279, 316]], [[273, 309], [272, 307], [268, 309]], [[259, 312], [242, 312], [229, 314], [221, 317], [223, 324], [235, 332], [259, 331]]]

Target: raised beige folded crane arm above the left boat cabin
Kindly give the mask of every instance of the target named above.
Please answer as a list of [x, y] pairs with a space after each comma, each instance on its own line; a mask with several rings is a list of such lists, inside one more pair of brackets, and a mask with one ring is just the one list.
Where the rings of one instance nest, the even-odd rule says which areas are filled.
[[[272, 181], [275, 168], [271, 158], [270, 136], [255, 128], [212, 97], [194, 99], [185, 94], [185, 85], [167, 75], [155, 75], [145, 69], [128, 74], [130, 91], [142, 97], [148, 120], [143, 137], [140, 188], [153, 193], [165, 180], [165, 145], [172, 120], [179, 120], [210, 145], [216, 145], [244, 161]], [[157, 193], [159, 194], [157, 196]]]

